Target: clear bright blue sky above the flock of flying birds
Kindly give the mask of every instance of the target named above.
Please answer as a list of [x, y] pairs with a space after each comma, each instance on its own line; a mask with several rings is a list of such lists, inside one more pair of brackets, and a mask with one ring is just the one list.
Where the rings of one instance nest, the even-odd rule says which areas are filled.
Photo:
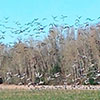
[[22, 23], [44, 17], [49, 23], [51, 16], [66, 15], [67, 23], [72, 24], [77, 16], [82, 16], [82, 21], [97, 19], [99, 12], [100, 0], [0, 0], [0, 20], [9, 17]]

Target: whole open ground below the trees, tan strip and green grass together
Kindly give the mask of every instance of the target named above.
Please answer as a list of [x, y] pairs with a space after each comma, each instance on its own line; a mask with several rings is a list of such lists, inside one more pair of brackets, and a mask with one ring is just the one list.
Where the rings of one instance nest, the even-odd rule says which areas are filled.
[[100, 100], [100, 86], [0, 85], [0, 100]]

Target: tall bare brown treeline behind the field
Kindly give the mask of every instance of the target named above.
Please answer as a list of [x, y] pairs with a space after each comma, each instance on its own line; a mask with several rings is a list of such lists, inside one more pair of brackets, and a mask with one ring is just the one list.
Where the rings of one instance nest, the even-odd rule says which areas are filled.
[[100, 23], [55, 26], [43, 40], [0, 44], [5, 84], [100, 84]]

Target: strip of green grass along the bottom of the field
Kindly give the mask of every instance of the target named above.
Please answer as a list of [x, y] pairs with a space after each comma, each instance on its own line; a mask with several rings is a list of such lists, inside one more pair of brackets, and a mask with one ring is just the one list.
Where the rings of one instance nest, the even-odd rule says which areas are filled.
[[0, 100], [100, 100], [97, 90], [0, 90]]

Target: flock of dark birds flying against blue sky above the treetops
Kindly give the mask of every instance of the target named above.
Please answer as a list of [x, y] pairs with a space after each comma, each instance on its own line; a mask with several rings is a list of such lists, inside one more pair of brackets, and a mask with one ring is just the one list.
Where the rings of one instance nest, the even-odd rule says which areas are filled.
[[[9, 26], [11, 23], [9, 22], [9, 17], [4, 17], [4, 20], [0, 21], [0, 40], [6, 39], [6, 35], [9, 35], [10, 38], [17, 37], [35, 37], [38, 38], [42, 35], [45, 36], [47, 34], [47, 30], [52, 26], [60, 26], [62, 23], [64, 23], [64, 28], [68, 28], [67, 19], [68, 16], [61, 15], [60, 18], [58, 16], [51, 16], [53, 19], [52, 23], [48, 23], [48, 25], [45, 22], [48, 22], [47, 18], [42, 18], [40, 20], [39, 18], [34, 18], [32, 21], [27, 22], [25, 24], [21, 24], [19, 21], [14, 21], [12, 23], [12, 26]], [[74, 26], [78, 27], [80, 25], [80, 20], [82, 16], [77, 16], [75, 20]], [[100, 17], [97, 18], [98, 20]], [[59, 23], [59, 21], [62, 21], [60, 25], [56, 24]], [[88, 25], [88, 22], [93, 22], [94, 19], [86, 18], [86, 22], [84, 24]], [[42, 34], [44, 33], [44, 34]]]

